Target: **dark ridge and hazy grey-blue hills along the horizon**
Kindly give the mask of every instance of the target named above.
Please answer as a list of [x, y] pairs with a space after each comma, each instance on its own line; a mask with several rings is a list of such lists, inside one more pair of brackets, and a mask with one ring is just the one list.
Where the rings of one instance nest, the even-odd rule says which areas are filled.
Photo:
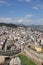
[[0, 26], [7, 26], [7, 27], [31, 27], [35, 30], [39, 30], [43, 32], [43, 25], [24, 25], [24, 24], [12, 24], [12, 23], [0, 23]]

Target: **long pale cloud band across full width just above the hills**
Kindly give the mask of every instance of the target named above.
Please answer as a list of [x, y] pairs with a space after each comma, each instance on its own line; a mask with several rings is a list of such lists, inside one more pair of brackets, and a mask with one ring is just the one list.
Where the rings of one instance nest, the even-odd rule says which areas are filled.
[[[27, 16], [27, 15], [26, 15]], [[0, 18], [0, 23], [14, 23], [14, 24], [25, 24], [25, 25], [32, 25], [32, 24], [37, 24], [37, 25], [43, 25], [43, 18], [39, 19], [32, 19], [32, 18]]]

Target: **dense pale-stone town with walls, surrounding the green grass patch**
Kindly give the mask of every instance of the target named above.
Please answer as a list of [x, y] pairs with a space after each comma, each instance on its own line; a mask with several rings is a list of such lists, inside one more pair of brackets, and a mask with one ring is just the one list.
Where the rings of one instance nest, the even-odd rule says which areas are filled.
[[31, 27], [0, 26], [0, 64], [22, 65], [19, 54], [43, 65], [43, 33]]

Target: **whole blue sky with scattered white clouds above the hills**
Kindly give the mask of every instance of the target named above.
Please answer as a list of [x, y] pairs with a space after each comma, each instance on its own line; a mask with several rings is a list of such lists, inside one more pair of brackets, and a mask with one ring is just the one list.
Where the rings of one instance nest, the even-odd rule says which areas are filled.
[[0, 0], [0, 23], [43, 25], [43, 0]]

